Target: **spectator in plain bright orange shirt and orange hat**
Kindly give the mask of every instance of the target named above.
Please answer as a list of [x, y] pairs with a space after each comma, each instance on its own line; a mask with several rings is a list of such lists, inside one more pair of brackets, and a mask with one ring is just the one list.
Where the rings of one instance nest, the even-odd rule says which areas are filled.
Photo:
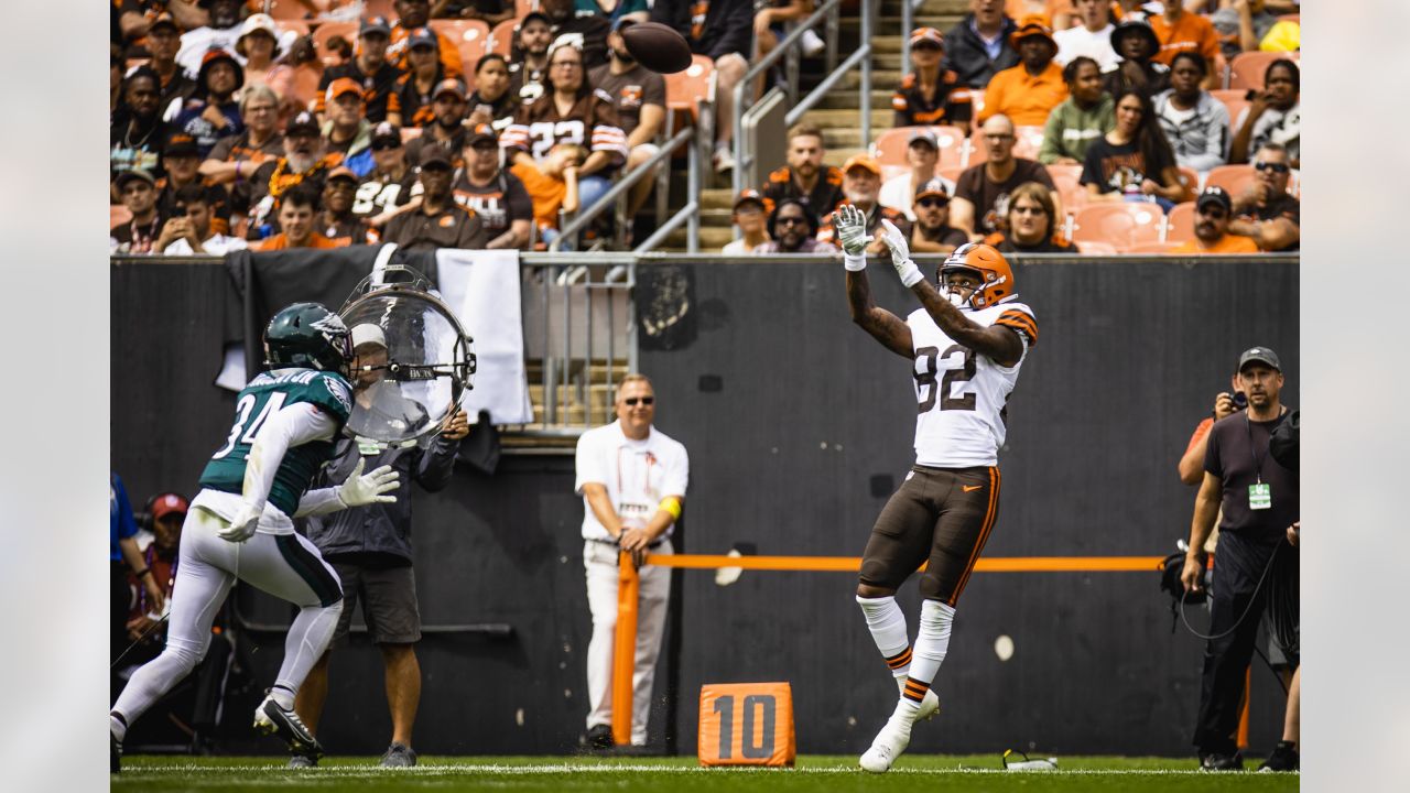
[[1067, 99], [1062, 66], [1053, 62], [1058, 42], [1046, 17], [1028, 17], [1010, 37], [1018, 65], [994, 75], [984, 90], [979, 120], [1003, 113], [1019, 127], [1042, 127], [1053, 107]]

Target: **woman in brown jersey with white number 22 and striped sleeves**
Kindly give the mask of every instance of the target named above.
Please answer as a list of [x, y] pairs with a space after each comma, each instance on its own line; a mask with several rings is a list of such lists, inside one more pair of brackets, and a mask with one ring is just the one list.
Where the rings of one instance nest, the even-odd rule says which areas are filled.
[[499, 144], [515, 164], [532, 164], [557, 144], [587, 148], [588, 159], [578, 169], [578, 200], [587, 209], [608, 192], [611, 175], [626, 161], [626, 134], [612, 97], [588, 85], [577, 47], [565, 41], [553, 45], [547, 80], [543, 99], [519, 110]]

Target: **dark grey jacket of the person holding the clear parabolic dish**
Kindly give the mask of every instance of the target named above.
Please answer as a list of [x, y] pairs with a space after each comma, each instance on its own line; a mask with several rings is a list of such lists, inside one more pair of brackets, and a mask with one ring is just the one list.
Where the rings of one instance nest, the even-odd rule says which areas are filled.
[[412, 563], [412, 492], [415, 480], [426, 492], [436, 492], [450, 483], [460, 440], [447, 440], [437, 435], [427, 449], [389, 449], [378, 454], [362, 456], [350, 439], [338, 440], [333, 461], [319, 474], [317, 487], [341, 484], [358, 457], [365, 459], [364, 471], [379, 466], [392, 466], [400, 474], [395, 504], [368, 504], [352, 507], [330, 515], [310, 516], [300, 521], [309, 540], [324, 557], [343, 555], [376, 553], [405, 559]]

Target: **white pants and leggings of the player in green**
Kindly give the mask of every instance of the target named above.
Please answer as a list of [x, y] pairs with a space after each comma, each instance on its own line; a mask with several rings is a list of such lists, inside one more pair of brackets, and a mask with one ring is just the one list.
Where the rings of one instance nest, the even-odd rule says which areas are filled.
[[216, 533], [227, 525], [200, 507], [186, 514], [166, 648], [133, 674], [113, 706], [128, 725], [206, 656], [210, 625], [237, 579], [300, 607], [285, 638], [275, 686], [298, 691], [329, 648], [343, 611], [343, 587], [319, 549], [299, 535], [259, 532], [243, 543], [228, 542]]

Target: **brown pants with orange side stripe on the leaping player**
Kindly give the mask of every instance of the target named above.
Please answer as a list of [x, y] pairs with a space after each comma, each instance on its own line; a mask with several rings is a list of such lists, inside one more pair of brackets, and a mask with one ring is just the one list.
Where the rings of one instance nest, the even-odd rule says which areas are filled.
[[888, 590], [926, 564], [921, 597], [955, 605], [998, 516], [997, 467], [915, 466], [871, 528], [862, 583]]

